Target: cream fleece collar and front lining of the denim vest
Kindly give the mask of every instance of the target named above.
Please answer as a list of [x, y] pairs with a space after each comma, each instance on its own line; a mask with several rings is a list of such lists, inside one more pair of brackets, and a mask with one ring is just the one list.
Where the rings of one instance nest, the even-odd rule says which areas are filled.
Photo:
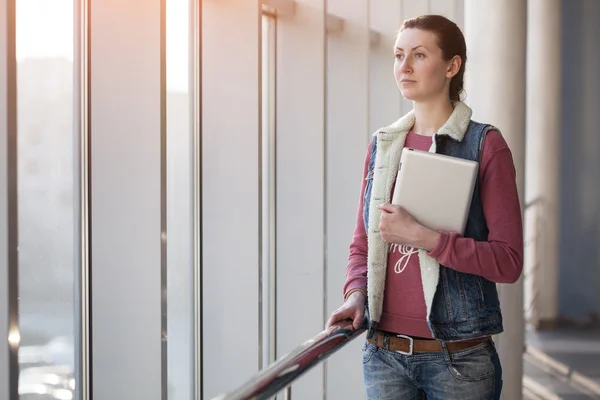
[[[456, 102], [454, 110], [448, 121], [433, 136], [430, 152], [436, 152], [436, 139], [441, 136], [449, 136], [455, 141], [461, 142], [469, 127], [472, 110], [463, 102]], [[369, 231], [367, 238], [368, 250], [368, 300], [371, 321], [380, 321], [383, 311], [383, 296], [385, 278], [387, 271], [388, 251], [390, 246], [381, 239], [379, 233], [379, 221], [381, 211], [377, 208], [379, 204], [390, 203], [392, 198], [392, 186], [396, 180], [396, 172], [400, 163], [400, 156], [406, 136], [415, 124], [414, 110], [398, 119], [393, 124], [379, 129], [375, 134], [377, 140], [377, 154], [375, 157], [375, 168], [373, 175], [373, 186], [369, 203]], [[400, 246], [397, 246], [400, 247]], [[421, 281], [423, 294], [427, 306], [427, 320], [431, 314], [431, 306], [437, 289], [440, 265], [427, 255], [423, 249], [403, 247], [405, 257], [418, 254], [421, 267]]]

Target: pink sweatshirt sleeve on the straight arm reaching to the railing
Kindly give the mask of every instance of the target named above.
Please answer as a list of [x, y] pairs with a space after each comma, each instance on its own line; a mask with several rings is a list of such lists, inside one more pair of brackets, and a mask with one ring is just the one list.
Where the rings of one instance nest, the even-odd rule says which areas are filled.
[[371, 159], [371, 143], [367, 148], [367, 156], [363, 167], [362, 184], [360, 186], [360, 197], [358, 200], [358, 210], [356, 213], [356, 225], [354, 226], [354, 234], [352, 243], [350, 244], [350, 255], [348, 256], [348, 264], [346, 266], [346, 282], [344, 283], [344, 298], [351, 291], [362, 290], [367, 292], [367, 233], [365, 232], [365, 224], [363, 219], [363, 198], [365, 187], [367, 186], [367, 173], [369, 170], [369, 161]]

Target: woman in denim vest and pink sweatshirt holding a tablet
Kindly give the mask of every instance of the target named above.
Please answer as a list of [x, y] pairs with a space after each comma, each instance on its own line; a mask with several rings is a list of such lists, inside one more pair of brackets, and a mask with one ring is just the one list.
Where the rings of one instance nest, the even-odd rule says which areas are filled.
[[[351, 319], [358, 328], [368, 304], [368, 399], [499, 399], [495, 283], [517, 281], [523, 264], [512, 155], [460, 100], [467, 56], [456, 24], [436, 15], [407, 20], [394, 54], [394, 77], [413, 110], [369, 144], [345, 302], [327, 325]], [[479, 162], [464, 236], [433, 231], [389, 204], [402, 147]]]

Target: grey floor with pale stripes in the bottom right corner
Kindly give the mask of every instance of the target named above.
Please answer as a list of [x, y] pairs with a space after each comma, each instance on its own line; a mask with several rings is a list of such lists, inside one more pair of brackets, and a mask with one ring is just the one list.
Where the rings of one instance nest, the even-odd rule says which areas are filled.
[[600, 330], [527, 332], [524, 399], [600, 399]]

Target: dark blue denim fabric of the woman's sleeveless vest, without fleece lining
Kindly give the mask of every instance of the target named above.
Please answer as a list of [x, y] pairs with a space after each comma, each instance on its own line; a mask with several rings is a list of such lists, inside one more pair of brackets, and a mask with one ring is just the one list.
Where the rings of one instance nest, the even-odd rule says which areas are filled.
[[[481, 162], [484, 139], [492, 128], [490, 125], [471, 121], [461, 142], [446, 135], [436, 135], [436, 153]], [[376, 154], [377, 141], [373, 140], [364, 192], [363, 219], [367, 231]], [[479, 179], [475, 183], [464, 236], [476, 241], [486, 241], [488, 237]], [[457, 272], [440, 265], [439, 281], [428, 324], [433, 337], [444, 341], [465, 340], [502, 332], [502, 314], [496, 284], [481, 276]], [[373, 328], [371, 321], [369, 326]]]

